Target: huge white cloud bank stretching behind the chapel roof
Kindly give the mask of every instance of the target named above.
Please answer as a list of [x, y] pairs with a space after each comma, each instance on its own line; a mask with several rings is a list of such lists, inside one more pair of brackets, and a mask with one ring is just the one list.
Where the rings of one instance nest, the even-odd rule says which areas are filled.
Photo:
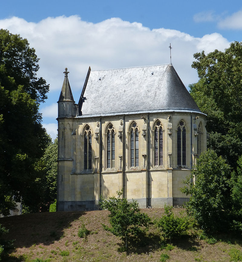
[[54, 123], [56, 101], [68, 68], [74, 100], [78, 101], [88, 67], [92, 70], [158, 65], [170, 62], [181, 80], [188, 86], [197, 82], [197, 72], [191, 69], [193, 54], [204, 50], [224, 50], [227, 39], [214, 33], [198, 38], [178, 30], [150, 30], [142, 24], [111, 18], [100, 23], [82, 21], [77, 15], [46, 18], [38, 23], [12, 17], [0, 20], [0, 28], [27, 38], [40, 58], [39, 76], [50, 83], [49, 99], [41, 105], [44, 123]]

